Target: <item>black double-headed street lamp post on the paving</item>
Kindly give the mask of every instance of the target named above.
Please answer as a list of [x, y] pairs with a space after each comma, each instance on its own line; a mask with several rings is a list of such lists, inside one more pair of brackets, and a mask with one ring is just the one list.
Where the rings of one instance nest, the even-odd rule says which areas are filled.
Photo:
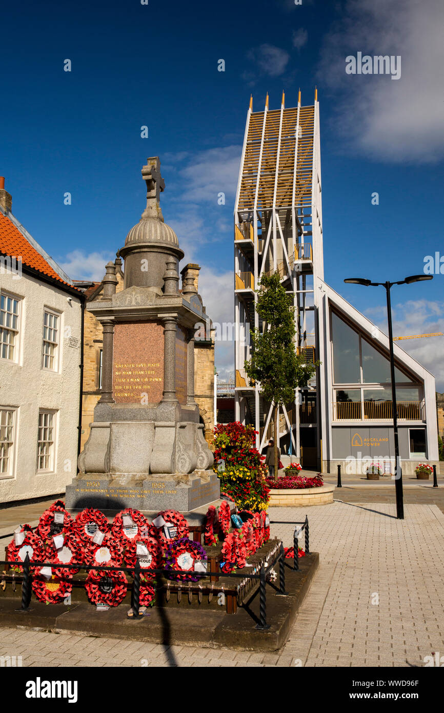
[[393, 438], [395, 441], [395, 491], [396, 491], [396, 518], [404, 519], [404, 501], [403, 501], [403, 471], [401, 468], [401, 458], [399, 457], [399, 440], [398, 440], [398, 406], [396, 404], [396, 380], [395, 380], [395, 357], [393, 354], [393, 329], [391, 322], [391, 299], [390, 289], [393, 284], [411, 284], [411, 282], [422, 282], [425, 279], [433, 279], [433, 275], [411, 275], [406, 279], [401, 279], [399, 282], [371, 282], [370, 279], [362, 277], [350, 277], [344, 279], [348, 284], [363, 284], [365, 287], [385, 287], [387, 294], [387, 319], [388, 319], [388, 344], [390, 351], [390, 378], [391, 378], [391, 403], [393, 411]]

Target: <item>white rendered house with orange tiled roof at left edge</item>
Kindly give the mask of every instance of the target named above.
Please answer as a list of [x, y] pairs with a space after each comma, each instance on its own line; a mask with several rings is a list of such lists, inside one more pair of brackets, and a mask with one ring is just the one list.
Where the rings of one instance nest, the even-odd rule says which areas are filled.
[[63, 493], [76, 475], [82, 302], [0, 179], [0, 503]]

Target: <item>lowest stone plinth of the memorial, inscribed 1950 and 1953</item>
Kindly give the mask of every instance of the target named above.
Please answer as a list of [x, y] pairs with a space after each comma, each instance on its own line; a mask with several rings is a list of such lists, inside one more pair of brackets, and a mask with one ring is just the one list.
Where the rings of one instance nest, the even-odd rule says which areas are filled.
[[214, 471], [155, 473], [149, 476], [123, 473], [88, 473], [66, 486], [66, 508], [82, 510], [188, 512], [220, 498], [220, 481]]

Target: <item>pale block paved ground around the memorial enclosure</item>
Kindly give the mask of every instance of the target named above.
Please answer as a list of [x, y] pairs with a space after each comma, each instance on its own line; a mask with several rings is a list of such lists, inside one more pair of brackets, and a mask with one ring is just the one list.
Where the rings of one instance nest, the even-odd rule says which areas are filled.
[[[336, 497], [349, 502], [328, 506], [270, 508], [272, 520], [290, 523], [303, 520], [308, 512], [311, 549], [319, 551], [321, 559], [280, 652], [164, 647], [4, 628], [0, 655], [21, 656], [30, 667], [423, 665], [425, 656], [444, 653], [444, 515], [439, 491], [406, 494], [405, 520], [396, 520], [393, 496], [384, 502], [389, 493], [374, 489], [341, 488]], [[356, 497], [360, 503], [352, 502]], [[291, 524], [272, 525], [272, 535], [282, 537], [286, 545], [292, 530]]]

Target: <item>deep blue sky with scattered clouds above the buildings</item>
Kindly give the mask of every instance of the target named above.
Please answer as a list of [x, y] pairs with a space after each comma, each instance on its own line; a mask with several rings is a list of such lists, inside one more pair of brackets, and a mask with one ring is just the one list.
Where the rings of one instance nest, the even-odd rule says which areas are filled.
[[[232, 320], [232, 220], [250, 93], [255, 111], [318, 86], [325, 278], [384, 328], [384, 293], [345, 285], [422, 272], [444, 256], [440, 0], [25, 1], [2, 10], [0, 175], [13, 212], [71, 277], [100, 278], [144, 207], [159, 155], [165, 221], [202, 296]], [[401, 56], [398, 81], [345, 58]], [[63, 71], [71, 59], [72, 71]], [[220, 58], [225, 71], [217, 71]], [[148, 126], [148, 138], [140, 127]], [[226, 195], [217, 205], [217, 194]], [[63, 205], [63, 194], [72, 205]], [[377, 192], [379, 205], [371, 205]], [[444, 275], [394, 288], [395, 332], [444, 332]], [[403, 342], [444, 391], [444, 337]], [[232, 344], [219, 344], [222, 376]]]

